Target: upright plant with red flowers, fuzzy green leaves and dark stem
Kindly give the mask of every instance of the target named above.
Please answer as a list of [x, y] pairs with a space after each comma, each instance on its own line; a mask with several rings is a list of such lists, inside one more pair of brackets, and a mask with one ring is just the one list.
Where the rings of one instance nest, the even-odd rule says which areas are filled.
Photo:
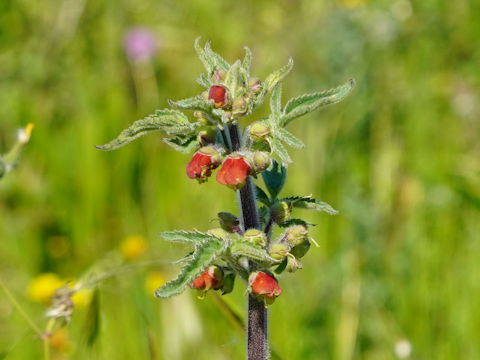
[[[197, 82], [205, 88], [201, 94], [179, 101], [169, 101], [173, 109], [157, 110], [138, 120], [100, 150], [117, 149], [156, 130], [166, 133], [164, 141], [177, 151], [195, 152], [186, 167], [187, 176], [203, 183], [212, 173], [216, 180], [239, 192], [239, 216], [218, 214], [221, 228], [208, 232], [167, 231], [160, 235], [167, 241], [194, 247], [182, 259], [180, 274], [155, 291], [158, 298], [183, 292], [187, 287], [204, 294], [218, 290], [232, 291], [235, 279], [247, 283], [249, 292], [248, 358], [268, 357], [266, 338], [267, 310], [282, 293], [276, 276], [302, 267], [299, 259], [310, 248], [308, 236], [312, 225], [292, 217], [294, 208], [306, 208], [336, 214], [330, 205], [311, 196], [279, 197], [292, 162], [286, 146], [303, 148], [304, 144], [286, 130], [296, 118], [318, 108], [335, 104], [353, 89], [349, 80], [337, 88], [304, 94], [282, 106], [282, 80], [293, 67], [293, 60], [264, 81], [250, 75], [252, 54], [245, 47], [245, 57], [232, 65], [215, 53], [210, 43], [195, 50], [205, 67]], [[251, 115], [270, 95], [271, 113], [267, 118], [242, 127], [240, 120]], [[193, 112], [193, 121], [183, 111]], [[253, 178], [261, 175], [265, 188]], [[273, 228], [285, 229], [273, 239]]]

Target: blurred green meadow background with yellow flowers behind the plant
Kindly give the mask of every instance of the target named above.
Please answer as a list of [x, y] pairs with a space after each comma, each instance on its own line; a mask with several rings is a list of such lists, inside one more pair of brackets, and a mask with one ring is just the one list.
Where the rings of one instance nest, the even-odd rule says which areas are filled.
[[[156, 233], [215, 227], [218, 211], [237, 211], [233, 192], [188, 179], [189, 156], [160, 135], [94, 148], [201, 90], [201, 35], [229, 61], [248, 45], [260, 77], [292, 56], [284, 101], [357, 81], [290, 128], [307, 146], [292, 152], [284, 194], [314, 194], [340, 214], [299, 213], [318, 224], [320, 248], [280, 279], [279, 357], [480, 359], [479, 18], [474, 0], [0, 1], [0, 153], [35, 125], [0, 180], [0, 277], [43, 329], [52, 284], [92, 266], [114, 275], [96, 306], [91, 293], [77, 300], [52, 358], [245, 356], [225, 312], [244, 315], [240, 282], [223, 305], [151, 294], [186, 250]], [[147, 40], [128, 52], [132, 32]], [[42, 354], [0, 291], [0, 358]]]

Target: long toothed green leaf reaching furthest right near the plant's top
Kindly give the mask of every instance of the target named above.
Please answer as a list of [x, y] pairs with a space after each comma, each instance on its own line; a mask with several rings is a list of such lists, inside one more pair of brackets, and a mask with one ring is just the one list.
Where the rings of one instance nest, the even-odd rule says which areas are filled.
[[290, 99], [285, 105], [282, 116], [282, 126], [286, 126], [293, 119], [312, 112], [320, 107], [336, 104], [342, 101], [355, 86], [353, 79], [334, 89], [305, 94]]

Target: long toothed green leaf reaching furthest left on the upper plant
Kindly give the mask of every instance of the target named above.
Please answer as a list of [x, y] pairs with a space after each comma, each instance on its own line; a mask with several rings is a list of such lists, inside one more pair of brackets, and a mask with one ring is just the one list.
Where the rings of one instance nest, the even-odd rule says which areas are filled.
[[184, 134], [194, 132], [196, 126], [196, 124], [189, 123], [188, 118], [180, 111], [171, 109], [157, 110], [155, 114], [135, 121], [108, 144], [97, 145], [96, 148], [111, 151], [131, 143], [150, 131], [163, 130], [167, 134]]

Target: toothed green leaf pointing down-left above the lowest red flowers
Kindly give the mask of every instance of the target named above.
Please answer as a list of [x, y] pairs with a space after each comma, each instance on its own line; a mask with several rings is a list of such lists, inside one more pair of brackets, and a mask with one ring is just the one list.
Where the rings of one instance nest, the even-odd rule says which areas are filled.
[[190, 285], [205, 269], [210, 266], [219, 256], [226, 253], [229, 242], [212, 238], [202, 241], [195, 246], [191, 261], [185, 265], [180, 274], [173, 280], [155, 291], [158, 298], [168, 298], [180, 294]]

